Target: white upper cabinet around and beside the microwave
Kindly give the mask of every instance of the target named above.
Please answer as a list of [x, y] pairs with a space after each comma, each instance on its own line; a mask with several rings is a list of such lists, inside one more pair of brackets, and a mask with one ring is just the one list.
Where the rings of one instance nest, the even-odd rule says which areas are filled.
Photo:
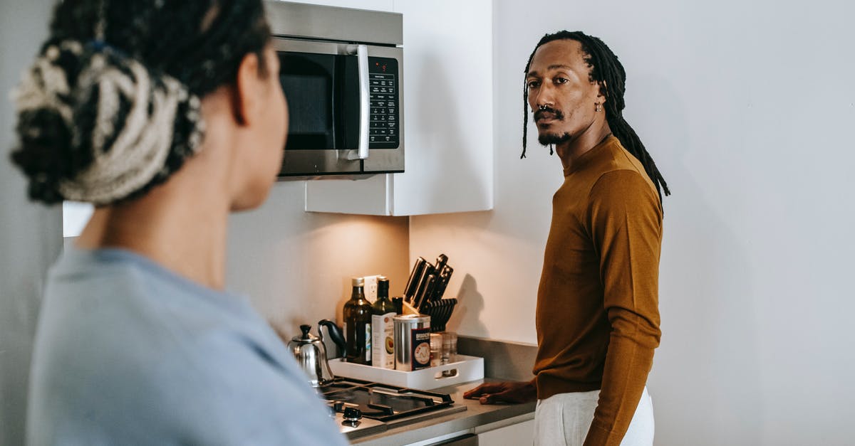
[[306, 210], [418, 215], [491, 209], [492, 0], [311, 3], [404, 15], [404, 173], [307, 181]]

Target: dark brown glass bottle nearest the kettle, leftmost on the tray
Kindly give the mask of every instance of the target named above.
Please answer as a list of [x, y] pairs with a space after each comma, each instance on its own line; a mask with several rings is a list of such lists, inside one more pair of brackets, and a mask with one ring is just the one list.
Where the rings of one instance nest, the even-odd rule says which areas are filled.
[[371, 303], [365, 299], [365, 280], [352, 279], [353, 293], [345, 302], [345, 358], [348, 362], [371, 365]]

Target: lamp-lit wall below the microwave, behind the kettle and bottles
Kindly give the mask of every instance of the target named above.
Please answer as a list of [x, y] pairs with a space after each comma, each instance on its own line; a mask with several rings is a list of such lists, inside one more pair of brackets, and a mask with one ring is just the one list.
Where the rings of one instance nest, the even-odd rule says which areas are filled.
[[229, 228], [229, 289], [289, 338], [301, 324], [340, 323], [351, 277], [384, 274], [397, 296], [410, 273], [405, 217], [307, 213], [304, 190], [303, 181], [277, 183], [262, 208], [233, 215]]

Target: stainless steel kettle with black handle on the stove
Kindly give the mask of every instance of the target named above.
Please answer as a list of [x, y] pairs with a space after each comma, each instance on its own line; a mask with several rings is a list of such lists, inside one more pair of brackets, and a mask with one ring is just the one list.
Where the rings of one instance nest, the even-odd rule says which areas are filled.
[[[339, 326], [331, 320], [321, 320], [318, 326], [327, 326], [327, 332], [333, 338], [333, 342], [339, 345], [344, 344], [344, 336], [342, 336]], [[312, 326], [300, 326], [300, 331], [303, 332], [300, 336], [292, 337], [288, 343], [288, 349], [291, 349], [297, 363], [306, 373], [309, 379], [309, 384], [312, 387], [319, 387], [324, 384], [331, 383], [335, 376], [330, 370], [327, 363], [327, 349], [323, 344], [323, 335], [321, 330], [318, 330], [319, 336], [314, 336], [310, 333]]]

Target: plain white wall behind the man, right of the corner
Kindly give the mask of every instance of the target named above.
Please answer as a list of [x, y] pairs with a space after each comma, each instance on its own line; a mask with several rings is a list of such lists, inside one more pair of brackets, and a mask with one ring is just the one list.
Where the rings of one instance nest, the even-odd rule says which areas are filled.
[[852, 3], [494, 4], [496, 208], [410, 221], [411, 257], [443, 249], [457, 268], [452, 327], [535, 342], [562, 173], [537, 145], [518, 159], [522, 69], [545, 32], [581, 29], [620, 56], [627, 119], [674, 191], [656, 443], [852, 443]]

